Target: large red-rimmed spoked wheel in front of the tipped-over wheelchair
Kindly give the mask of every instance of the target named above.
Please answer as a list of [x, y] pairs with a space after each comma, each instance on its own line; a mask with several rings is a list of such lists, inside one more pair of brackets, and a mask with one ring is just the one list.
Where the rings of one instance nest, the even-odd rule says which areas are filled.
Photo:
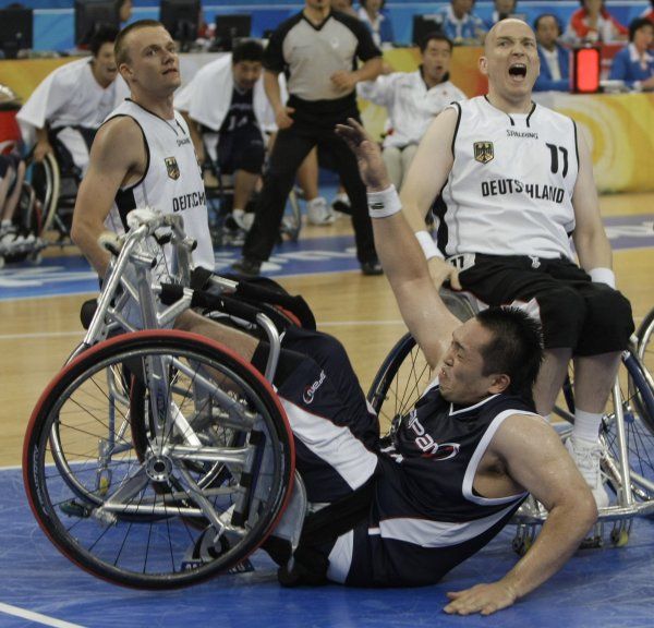
[[166, 589], [227, 571], [265, 541], [292, 490], [294, 450], [249, 364], [193, 334], [142, 331], [52, 381], [23, 469], [66, 557], [119, 584]]

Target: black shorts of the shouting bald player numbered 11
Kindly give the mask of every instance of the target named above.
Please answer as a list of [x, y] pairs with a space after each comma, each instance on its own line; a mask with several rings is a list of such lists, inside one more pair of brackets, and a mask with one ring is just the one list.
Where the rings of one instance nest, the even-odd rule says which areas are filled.
[[535, 299], [547, 349], [570, 348], [581, 357], [622, 351], [633, 333], [629, 301], [604, 283], [593, 283], [566, 258], [477, 253], [459, 280], [488, 305]]

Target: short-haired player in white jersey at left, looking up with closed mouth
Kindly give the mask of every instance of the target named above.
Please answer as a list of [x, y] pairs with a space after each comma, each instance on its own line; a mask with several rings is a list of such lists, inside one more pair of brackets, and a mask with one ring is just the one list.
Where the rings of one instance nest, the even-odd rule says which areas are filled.
[[[177, 46], [159, 22], [142, 20], [119, 33], [116, 62], [131, 99], [96, 135], [75, 203], [73, 241], [104, 277], [110, 254], [98, 244], [99, 235], [107, 227], [121, 232], [125, 213], [147, 204], [184, 218], [184, 229], [197, 241], [193, 264], [213, 270], [199, 166], [189, 129], [172, 107], [181, 84]], [[179, 316], [175, 327], [221, 340], [220, 328], [192, 311]]]

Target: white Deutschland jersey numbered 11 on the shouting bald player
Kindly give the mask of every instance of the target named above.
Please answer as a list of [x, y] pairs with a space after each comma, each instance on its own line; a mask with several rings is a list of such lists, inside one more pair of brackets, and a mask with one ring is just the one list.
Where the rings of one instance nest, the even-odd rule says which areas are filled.
[[450, 107], [459, 122], [434, 208], [440, 251], [572, 258], [574, 122], [541, 105], [509, 116], [484, 96]]

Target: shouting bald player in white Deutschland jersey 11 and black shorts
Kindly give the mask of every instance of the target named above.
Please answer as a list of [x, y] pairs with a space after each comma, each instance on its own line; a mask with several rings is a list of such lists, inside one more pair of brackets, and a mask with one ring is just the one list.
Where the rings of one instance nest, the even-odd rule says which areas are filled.
[[[488, 94], [433, 122], [402, 205], [437, 285], [449, 279], [491, 305], [534, 300], [547, 350], [534, 389], [541, 414], [552, 412], [574, 359], [577, 411], [567, 446], [605, 506], [600, 423], [633, 322], [615, 290], [590, 150], [572, 120], [532, 102], [540, 61], [524, 22], [493, 27], [480, 69]], [[425, 231], [432, 206], [437, 246]]]

